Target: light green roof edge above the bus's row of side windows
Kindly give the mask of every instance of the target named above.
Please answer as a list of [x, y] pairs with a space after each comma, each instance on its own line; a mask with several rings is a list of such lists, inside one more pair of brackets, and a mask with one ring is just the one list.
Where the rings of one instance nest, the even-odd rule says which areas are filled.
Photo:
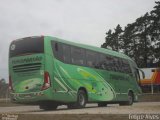
[[125, 55], [123, 53], [119, 53], [119, 52], [113, 51], [113, 50], [100, 48], [100, 47], [95, 47], [95, 46], [91, 46], [91, 45], [85, 45], [85, 44], [81, 44], [81, 43], [74, 43], [74, 42], [67, 41], [67, 40], [64, 40], [64, 39], [60, 39], [60, 38], [57, 38], [57, 37], [51, 37], [51, 36], [44, 36], [44, 37], [49, 37], [49, 38], [52, 38], [54, 41], [57, 41], [57, 42], [61, 42], [61, 43], [65, 43], [65, 44], [69, 44], [69, 45], [85, 48], [85, 49], [88, 49], [88, 50], [93, 50], [93, 51], [96, 51], [96, 52], [100, 52], [100, 53], [116, 56], [116, 57], [119, 57], [119, 58], [124, 58], [124, 59], [127, 59], [127, 60], [130, 60], [130, 61], [134, 62], [127, 55]]

